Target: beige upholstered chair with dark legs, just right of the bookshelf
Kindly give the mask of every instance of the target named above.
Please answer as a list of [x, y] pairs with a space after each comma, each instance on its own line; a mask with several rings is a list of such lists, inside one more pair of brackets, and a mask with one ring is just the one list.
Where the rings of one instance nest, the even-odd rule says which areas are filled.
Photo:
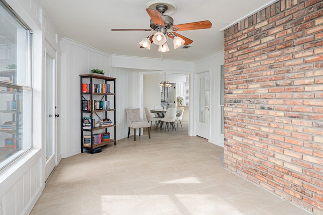
[[126, 109], [127, 124], [128, 124], [128, 138], [130, 135], [130, 128], [133, 128], [133, 140], [136, 141], [136, 128], [139, 128], [139, 136], [141, 129], [148, 128], [148, 136], [150, 139], [150, 123], [140, 118], [140, 108]]

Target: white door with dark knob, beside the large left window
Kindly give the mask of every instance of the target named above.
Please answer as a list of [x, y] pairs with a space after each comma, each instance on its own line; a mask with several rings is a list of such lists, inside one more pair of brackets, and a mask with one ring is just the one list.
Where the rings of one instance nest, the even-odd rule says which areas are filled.
[[45, 113], [46, 113], [46, 145], [45, 145], [45, 180], [55, 169], [56, 139], [55, 139], [55, 83], [56, 83], [56, 51], [48, 44], [45, 44]]

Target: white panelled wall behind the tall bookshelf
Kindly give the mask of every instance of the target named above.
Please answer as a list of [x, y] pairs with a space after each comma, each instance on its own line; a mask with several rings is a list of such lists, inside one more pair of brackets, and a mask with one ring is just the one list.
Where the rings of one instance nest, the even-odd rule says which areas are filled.
[[[111, 55], [86, 45], [68, 40], [62, 40], [62, 111], [61, 143], [62, 157], [70, 157], [81, 152], [81, 113], [80, 113], [80, 77], [81, 74], [90, 74], [92, 68], [102, 69], [104, 76], [116, 78], [116, 136], [125, 137], [124, 108], [128, 106], [129, 72], [111, 67]], [[131, 87], [131, 86], [130, 86]], [[73, 135], [71, 135], [73, 134]]]

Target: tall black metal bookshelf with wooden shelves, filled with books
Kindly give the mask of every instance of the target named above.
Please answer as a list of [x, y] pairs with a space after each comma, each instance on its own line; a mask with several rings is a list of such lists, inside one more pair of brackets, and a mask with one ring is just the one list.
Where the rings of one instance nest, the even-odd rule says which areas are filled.
[[[107, 144], [111, 144], [114, 142], [114, 144], [116, 145], [116, 78], [94, 74], [80, 75], [80, 78], [81, 153], [86, 151], [93, 154], [96, 152], [97, 149]], [[87, 85], [86, 89], [83, 88], [83, 84]], [[111, 89], [112, 85], [113, 87]], [[87, 101], [86, 108], [84, 107], [84, 101]], [[99, 107], [97, 108], [96, 104], [94, 104], [94, 101], [99, 102], [99, 104], [104, 104], [104, 107], [102, 106], [101, 108], [101, 106], [99, 105]], [[109, 118], [110, 121], [107, 122], [109, 124], [104, 126], [96, 126], [96, 123], [94, 121], [106, 120], [108, 117], [108, 112], [110, 111], [113, 111], [114, 113], [113, 119]], [[90, 126], [87, 125], [84, 127], [84, 121], [86, 121], [87, 119], [90, 120]], [[100, 139], [101, 141], [94, 142], [94, 136], [97, 136], [98, 134], [102, 134], [102, 136], [104, 134], [107, 135], [108, 132], [110, 133], [110, 135], [113, 132], [114, 139]], [[87, 138], [85, 138], [85, 136]], [[88, 141], [88, 136], [90, 136], [90, 141]]]

